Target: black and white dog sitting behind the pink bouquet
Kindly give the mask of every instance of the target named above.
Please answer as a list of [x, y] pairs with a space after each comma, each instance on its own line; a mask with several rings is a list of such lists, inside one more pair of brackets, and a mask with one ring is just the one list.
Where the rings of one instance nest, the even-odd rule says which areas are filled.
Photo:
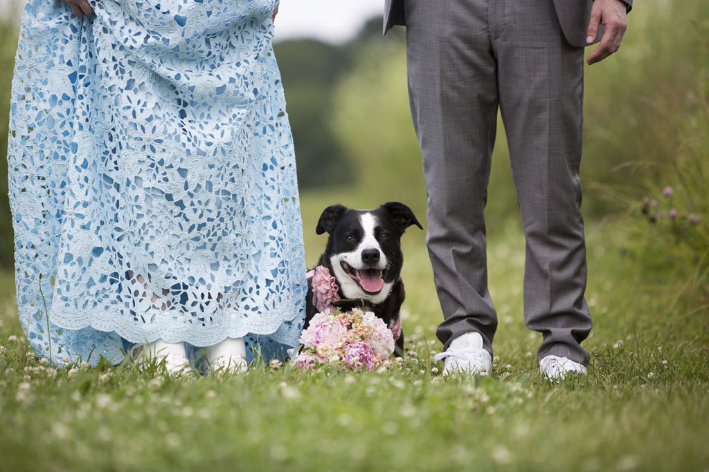
[[[404, 299], [400, 240], [413, 224], [423, 229], [411, 208], [388, 202], [372, 210], [332, 205], [325, 208], [316, 227], [317, 234], [330, 235], [318, 267], [328, 269], [337, 282], [340, 299], [333, 305], [374, 312], [392, 330], [399, 355], [403, 353], [399, 311]], [[313, 272], [308, 272], [306, 328], [319, 311], [313, 297]]]

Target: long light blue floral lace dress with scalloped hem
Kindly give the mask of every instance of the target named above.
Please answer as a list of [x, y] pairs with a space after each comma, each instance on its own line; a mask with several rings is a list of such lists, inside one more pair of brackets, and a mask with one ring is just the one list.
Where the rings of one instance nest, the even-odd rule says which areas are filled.
[[53, 362], [297, 345], [306, 294], [277, 0], [29, 0], [12, 88], [21, 324]]

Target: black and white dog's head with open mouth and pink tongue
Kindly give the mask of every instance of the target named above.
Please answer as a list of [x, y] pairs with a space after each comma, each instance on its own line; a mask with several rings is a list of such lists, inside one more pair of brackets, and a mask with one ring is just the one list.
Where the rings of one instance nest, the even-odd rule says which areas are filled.
[[373, 210], [325, 209], [316, 232], [330, 234], [323, 258], [345, 298], [380, 304], [388, 297], [403, 263], [401, 235], [412, 224], [421, 228], [411, 209], [399, 202]]

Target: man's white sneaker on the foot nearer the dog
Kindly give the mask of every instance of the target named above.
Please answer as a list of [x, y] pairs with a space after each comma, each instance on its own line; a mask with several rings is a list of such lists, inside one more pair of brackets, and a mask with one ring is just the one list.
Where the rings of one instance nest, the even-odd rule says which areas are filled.
[[433, 360], [445, 359], [443, 375], [454, 373], [487, 375], [492, 370], [492, 356], [483, 349], [483, 337], [480, 333], [465, 333], [450, 343], [448, 349], [433, 356]]

